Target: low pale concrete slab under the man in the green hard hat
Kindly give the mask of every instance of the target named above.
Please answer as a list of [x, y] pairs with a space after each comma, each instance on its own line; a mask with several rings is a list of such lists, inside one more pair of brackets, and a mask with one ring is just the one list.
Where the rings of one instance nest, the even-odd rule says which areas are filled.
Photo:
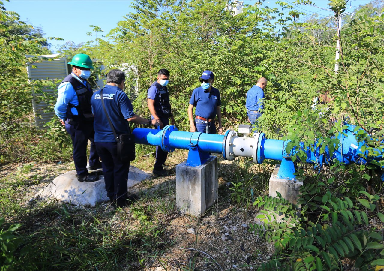
[[[129, 167], [128, 188], [137, 185], [149, 178], [149, 174], [134, 166]], [[57, 200], [84, 206], [95, 206], [97, 203], [108, 201], [105, 190], [104, 176], [91, 183], [79, 182], [76, 170], [68, 171], [55, 178], [49, 185], [39, 191], [35, 196], [43, 199], [56, 198]]]

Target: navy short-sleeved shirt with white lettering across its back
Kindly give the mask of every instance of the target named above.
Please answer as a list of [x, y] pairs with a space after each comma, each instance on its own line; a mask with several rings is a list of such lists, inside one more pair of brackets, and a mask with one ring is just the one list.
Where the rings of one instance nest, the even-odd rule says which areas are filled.
[[[117, 86], [105, 85], [103, 97], [109, 118], [117, 135], [129, 133], [128, 118], [135, 115], [132, 103], [128, 96]], [[105, 115], [103, 104], [101, 103], [100, 90], [93, 93], [91, 105], [94, 120], [95, 142], [116, 142], [111, 125]]]

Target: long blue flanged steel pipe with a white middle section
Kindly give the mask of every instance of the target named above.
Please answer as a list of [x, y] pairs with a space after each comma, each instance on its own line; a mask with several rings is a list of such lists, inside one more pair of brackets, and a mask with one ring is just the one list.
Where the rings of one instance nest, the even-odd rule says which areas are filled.
[[[301, 142], [300, 147], [286, 153], [288, 141], [267, 139], [264, 133], [255, 133], [253, 137], [240, 137], [236, 132], [227, 130], [225, 135], [212, 135], [178, 131], [175, 126], [168, 125], [162, 130], [136, 128], [133, 130], [133, 134], [138, 144], [160, 146], [167, 152], [172, 152], [176, 148], [195, 152], [194, 155], [189, 156], [189, 159], [199, 158], [198, 156], [201, 159], [197, 159], [199, 161], [187, 160], [190, 165], [203, 163], [209, 157], [206, 155], [207, 153], [222, 153], [227, 160], [233, 160], [236, 156], [244, 156], [253, 158], [253, 161], [259, 164], [263, 163], [264, 159], [272, 159], [283, 161], [282, 165], [286, 165], [287, 161], [293, 165], [290, 158], [296, 156], [299, 159], [297, 156], [299, 150], [305, 151], [307, 155], [306, 161], [301, 162], [316, 164], [320, 167], [333, 163], [333, 160], [348, 165], [375, 163], [383, 159], [383, 150], [380, 148], [374, 149], [373, 152], [377, 155], [370, 157], [372, 150], [371, 153], [365, 150], [366, 147], [369, 147], [367, 142], [359, 142], [356, 139], [356, 126], [346, 122], [344, 125], [347, 128], [343, 130], [343, 133], [339, 133], [339, 145], [334, 146], [334, 152], [331, 153], [327, 146], [322, 154], [320, 154], [321, 145], [318, 144], [318, 141], [315, 141], [312, 148], [305, 147], [305, 144]], [[384, 140], [381, 143], [384, 143]], [[382, 168], [384, 169], [384, 167]], [[295, 176], [284, 176], [284, 178], [295, 178]]]

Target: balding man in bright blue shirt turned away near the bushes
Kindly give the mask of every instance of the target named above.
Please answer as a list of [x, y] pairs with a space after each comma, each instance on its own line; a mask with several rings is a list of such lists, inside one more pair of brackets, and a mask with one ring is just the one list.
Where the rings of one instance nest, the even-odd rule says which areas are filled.
[[257, 119], [263, 115], [264, 89], [266, 84], [266, 78], [262, 77], [257, 80], [257, 84], [252, 86], [247, 92], [245, 107], [247, 108], [248, 121], [252, 125], [255, 125]]

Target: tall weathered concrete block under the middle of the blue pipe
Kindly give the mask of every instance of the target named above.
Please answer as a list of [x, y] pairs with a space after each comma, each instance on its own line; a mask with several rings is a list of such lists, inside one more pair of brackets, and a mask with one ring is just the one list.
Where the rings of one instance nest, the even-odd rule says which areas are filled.
[[176, 202], [182, 213], [196, 217], [217, 202], [217, 156], [201, 166], [176, 166]]

